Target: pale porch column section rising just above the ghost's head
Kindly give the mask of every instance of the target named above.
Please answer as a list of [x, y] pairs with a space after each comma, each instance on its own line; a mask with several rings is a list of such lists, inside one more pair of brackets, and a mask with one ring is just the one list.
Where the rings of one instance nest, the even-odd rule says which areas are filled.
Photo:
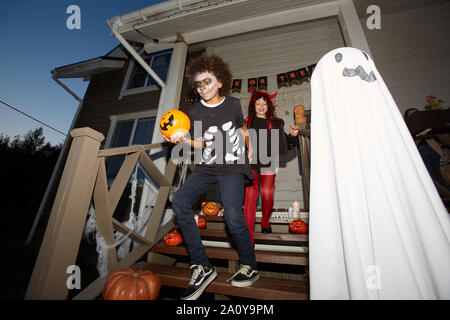
[[363, 50], [372, 57], [353, 0], [339, 0], [338, 19], [346, 45]]

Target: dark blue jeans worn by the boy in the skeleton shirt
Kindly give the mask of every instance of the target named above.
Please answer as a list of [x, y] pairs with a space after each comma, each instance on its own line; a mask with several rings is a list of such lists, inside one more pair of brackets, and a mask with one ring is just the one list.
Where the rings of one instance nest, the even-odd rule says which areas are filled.
[[208, 187], [217, 182], [224, 206], [224, 218], [239, 254], [239, 262], [257, 268], [250, 232], [244, 219], [244, 176], [226, 174], [220, 176], [193, 172], [177, 191], [172, 208], [177, 216], [178, 226], [183, 234], [191, 264], [209, 266], [205, 247], [194, 219], [192, 206], [207, 192]]

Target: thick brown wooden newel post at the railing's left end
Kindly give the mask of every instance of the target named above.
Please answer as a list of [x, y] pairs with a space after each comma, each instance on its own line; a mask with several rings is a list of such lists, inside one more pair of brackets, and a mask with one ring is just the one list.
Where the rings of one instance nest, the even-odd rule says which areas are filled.
[[98, 151], [104, 140], [101, 133], [90, 128], [77, 128], [70, 134], [72, 145], [28, 284], [27, 300], [66, 299], [69, 291], [71, 274], [67, 268], [76, 262], [97, 177]]

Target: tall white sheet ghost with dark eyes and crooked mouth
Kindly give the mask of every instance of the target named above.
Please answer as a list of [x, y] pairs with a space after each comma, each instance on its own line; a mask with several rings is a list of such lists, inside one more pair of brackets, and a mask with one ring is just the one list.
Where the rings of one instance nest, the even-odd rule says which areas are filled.
[[372, 59], [311, 80], [311, 299], [450, 299], [450, 220]]

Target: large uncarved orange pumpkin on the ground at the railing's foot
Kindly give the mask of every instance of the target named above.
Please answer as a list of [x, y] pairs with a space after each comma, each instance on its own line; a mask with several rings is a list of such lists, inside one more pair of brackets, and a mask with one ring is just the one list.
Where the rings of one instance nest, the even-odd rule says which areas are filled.
[[160, 289], [161, 279], [150, 270], [116, 270], [106, 279], [103, 299], [156, 300]]

